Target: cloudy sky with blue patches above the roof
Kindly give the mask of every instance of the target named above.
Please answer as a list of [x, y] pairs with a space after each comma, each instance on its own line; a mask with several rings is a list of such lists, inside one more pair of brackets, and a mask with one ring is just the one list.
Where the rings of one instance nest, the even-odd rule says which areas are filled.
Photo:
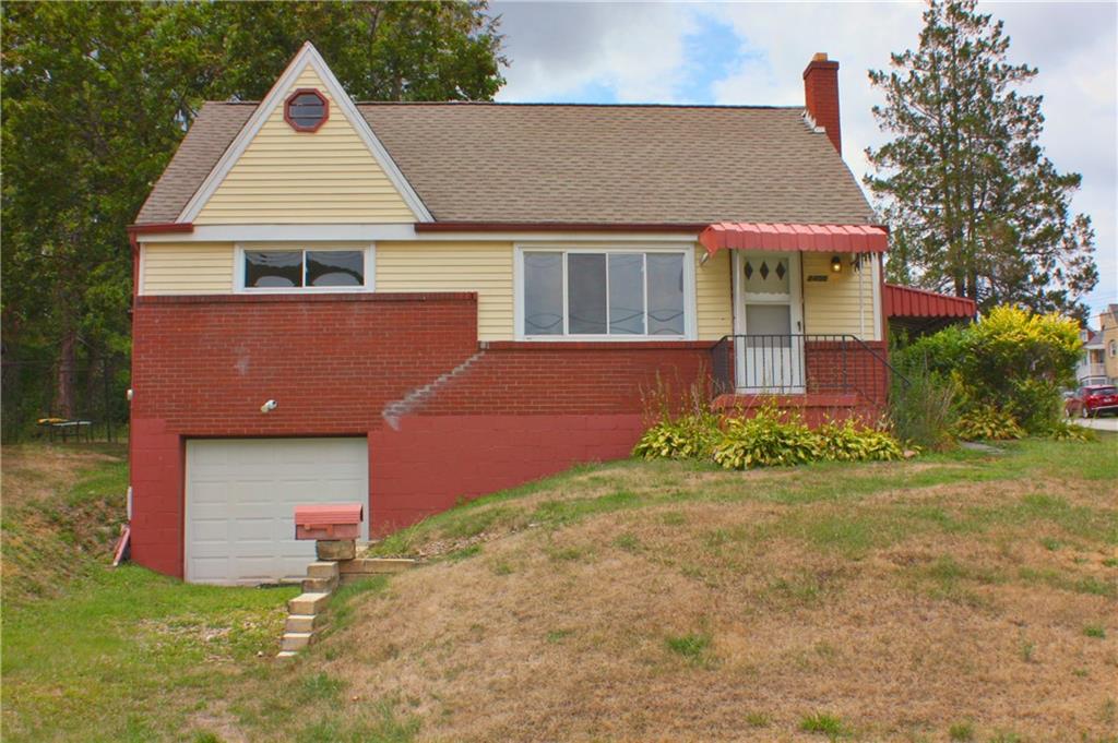
[[[1010, 61], [1040, 75], [1045, 153], [1083, 183], [1099, 284], [1092, 315], [1118, 303], [1118, 3], [982, 2], [1005, 21]], [[843, 156], [861, 181], [864, 150], [887, 137], [866, 72], [915, 47], [919, 2], [494, 2], [510, 66], [499, 101], [803, 105], [803, 70], [840, 63]], [[1097, 320], [1092, 322], [1097, 326]]]

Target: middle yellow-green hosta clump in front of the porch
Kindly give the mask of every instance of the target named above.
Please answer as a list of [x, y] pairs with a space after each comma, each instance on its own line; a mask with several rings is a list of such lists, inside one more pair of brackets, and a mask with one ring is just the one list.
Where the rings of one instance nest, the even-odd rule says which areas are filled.
[[761, 408], [752, 418], [729, 418], [714, 461], [727, 469], [802, 465], [822, 458], [819, 437], [798, 418]]

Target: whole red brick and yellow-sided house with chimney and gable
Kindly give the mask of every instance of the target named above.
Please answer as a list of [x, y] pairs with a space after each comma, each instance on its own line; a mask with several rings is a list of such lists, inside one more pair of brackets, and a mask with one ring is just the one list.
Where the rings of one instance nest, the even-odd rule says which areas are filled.
[[206, 104], [131, 228], [133, 559], [301, 574], [295, 504], [385, 534], [627, 456], [656, 389], [879, 415], [837, 74], [803, 107], [356, 104], [306, 45]]

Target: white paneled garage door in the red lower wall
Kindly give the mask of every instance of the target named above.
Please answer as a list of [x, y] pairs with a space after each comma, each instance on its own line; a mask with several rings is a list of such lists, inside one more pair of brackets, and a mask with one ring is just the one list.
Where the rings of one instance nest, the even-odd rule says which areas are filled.
[[314, 542], [295, 540], [294, 508], [307, 503], [362, 504], [368, 537], [366, 439], [188, 440], [187, 580], [265, 583], [303, 575]]

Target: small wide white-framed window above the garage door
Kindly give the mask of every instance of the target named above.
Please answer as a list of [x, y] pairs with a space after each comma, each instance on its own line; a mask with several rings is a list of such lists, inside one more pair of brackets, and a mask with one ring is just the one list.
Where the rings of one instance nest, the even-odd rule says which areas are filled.
[[369, 249], [244, 248], [240, 286], [247, 292], [361, 292], [371, 286]]

